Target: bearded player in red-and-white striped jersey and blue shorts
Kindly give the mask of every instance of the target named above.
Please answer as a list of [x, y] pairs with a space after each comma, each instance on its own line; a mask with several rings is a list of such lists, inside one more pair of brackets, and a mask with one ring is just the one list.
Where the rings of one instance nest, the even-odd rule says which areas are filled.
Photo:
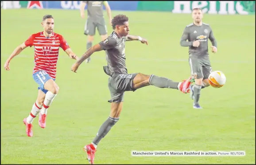
[[39, 126], [46, 127], [47, 109], [58, 94], [59, 87], [55, 79], [59, 48], [62, 48], [70, 58], [78, 59], [62, 35], [53, 32], [54, 19], [52, 15], [43, 16], [42, 26], [43, 31], [32, 34], [27, 41], [14, 49], [4, 64], [5, 70], [10, 70], [12, 58], [19, 55], [28, 46], [34, 46], [35, 67], [33, 69], [33, 78], [39, 87], [37, 100], [32, 106], [30, 114], [23, 120], [29, 137], [33, 136], [32, 122], [38, 114]]

